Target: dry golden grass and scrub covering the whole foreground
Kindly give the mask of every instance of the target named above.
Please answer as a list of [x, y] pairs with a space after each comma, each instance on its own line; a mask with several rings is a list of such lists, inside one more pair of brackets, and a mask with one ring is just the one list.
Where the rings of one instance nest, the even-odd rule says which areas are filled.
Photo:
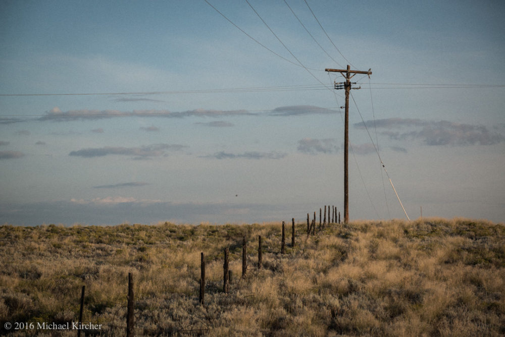
[[[5, 322], [84, 321], [124, 335], [127, 275], [138, 335], [505, 334], [505, 226], [424, 218], [332, 224], [280, 254], [280, 223], [0, 227], [0, 333]], [[290, 243], [290, 226], [287, 242]], [[241, 275], [241, 241], [248, 272]], [[263, 268], [257, 269], [257, 238]], [[222, 293], [223, 250], [233, 272]], [[200, 252], [206, 305], [198, 305]], [[75, 335], [75, 331], [58, 331]]]

